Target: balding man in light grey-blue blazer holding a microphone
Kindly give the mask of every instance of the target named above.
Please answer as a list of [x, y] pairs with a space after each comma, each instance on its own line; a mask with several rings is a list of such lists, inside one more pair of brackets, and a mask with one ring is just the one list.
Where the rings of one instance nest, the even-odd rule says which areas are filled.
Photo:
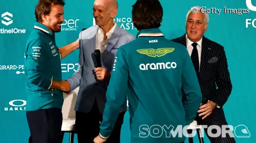
[[[106, 91], [118, 48], [135, 39], [114, 21], [116, 0], [96, 0], [93, 4], [95, 26], [82, 31], [78, 70], [68, 78], [71, 90], [80, 86], [75, 106], [78, 143], [93, 142], [99, 135], [99, 126], [106, 103]], [[101, 52], [101, 65], [97, 67], [95, 50]], [[95, 68], [97, 67], [97, 68]], [[119, 85], [116, 85], [119, 88]], [[121, 126], [127, 110], [126, 100], [108, 142], [120, 142]]]

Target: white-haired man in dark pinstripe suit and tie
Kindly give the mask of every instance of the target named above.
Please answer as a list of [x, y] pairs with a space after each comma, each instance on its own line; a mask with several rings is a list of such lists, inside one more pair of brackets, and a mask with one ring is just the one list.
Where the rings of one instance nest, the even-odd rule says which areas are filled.
[[[223, 46], [204, 37], [208, 27], [209, 16], [206, 12], [201, 13], [200, 8], [193, 7], [190, 9], [186, 17], [186, 33], [171, 41], [187, 47], [198, 75], [203, 98], [208, 100], [208, 103], [200, 106], [198, 111], [199, 116], [203, 119], [201, 125], [207, 125], [208, 127], [217, 125], [222, 129], [222, 125], [228, 125], [223, 106], [232, 91], [232, 83]], [[185, 102], [185, 94], [183, 96]], [[215, 134], [216, 131], [214, 129], [212, 133]], [[213, 137], [205, 129], [205, 133], [212, 143], [235, 142], [232, 132], [227, 132], [229, 134], [225, 134], [225, 137], [221, 135]]]

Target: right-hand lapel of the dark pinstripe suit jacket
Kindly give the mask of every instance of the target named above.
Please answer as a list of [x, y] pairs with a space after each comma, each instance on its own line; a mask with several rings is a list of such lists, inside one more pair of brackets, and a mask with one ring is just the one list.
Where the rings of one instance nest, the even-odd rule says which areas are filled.
[[201, 75], [204, 72], [207, 59], [210, 56], [210, 53], [211, 53], [211, 45], [209, 44], [209, 42], [207, 42], [207, 39], [203, 36], [199, 75]]

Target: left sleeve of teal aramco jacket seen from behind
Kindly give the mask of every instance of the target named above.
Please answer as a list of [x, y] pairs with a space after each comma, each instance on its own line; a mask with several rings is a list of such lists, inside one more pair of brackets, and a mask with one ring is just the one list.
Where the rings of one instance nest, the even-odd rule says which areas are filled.
[[[100, 125], [100, 135], [109, 137], [114, 128], [120, 107], [125, 102], [128, 86], [129, 67], [127, 65], [124, 51], [119, 48], [116, 53], [109, 88], [106, 93], [106, 105], [103, 114], [103, 121]], [[118, 85], [118, 87], [116, 87]]]

